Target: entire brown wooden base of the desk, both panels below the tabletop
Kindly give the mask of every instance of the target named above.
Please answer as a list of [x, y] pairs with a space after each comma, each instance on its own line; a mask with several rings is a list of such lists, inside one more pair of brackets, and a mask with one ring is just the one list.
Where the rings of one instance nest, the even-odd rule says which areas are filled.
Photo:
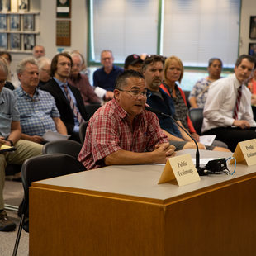
[[254, 255], [256, 178], [161, 205], [31, 187], [31, 255]]

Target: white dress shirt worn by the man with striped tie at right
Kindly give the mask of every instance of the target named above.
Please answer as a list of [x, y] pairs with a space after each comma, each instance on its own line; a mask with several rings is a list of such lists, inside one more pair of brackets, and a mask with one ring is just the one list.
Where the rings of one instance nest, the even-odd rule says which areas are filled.
[[[236, 94], [240, 85], [235, 73], [211, 83], [203, 112], [202, 132], [216, 127], [232, 126], [235, 121], [233, 113]], [[256, 126], [251, 107], [251, 92], [244, 85], [242, 85], [238, 119], [249, 121], [250, 126]]]

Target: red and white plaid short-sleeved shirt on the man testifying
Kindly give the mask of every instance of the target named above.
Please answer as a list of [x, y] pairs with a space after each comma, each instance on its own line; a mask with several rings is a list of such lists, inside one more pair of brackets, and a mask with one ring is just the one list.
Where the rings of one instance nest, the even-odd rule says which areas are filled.
[[88, 123], [78, 160], [89, 170], [105, 166], [104, 158], [123, 149], [132, 152], [153, 151], [154, 145], [168, 142], [154, 113], [135, 116], [133, 127], [127, 113], [115, 99], [99, 108]]

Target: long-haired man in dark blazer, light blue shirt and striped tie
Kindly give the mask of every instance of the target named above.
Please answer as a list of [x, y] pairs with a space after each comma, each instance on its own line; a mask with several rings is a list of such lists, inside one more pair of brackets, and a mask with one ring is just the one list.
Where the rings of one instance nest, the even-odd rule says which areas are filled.
[[[50, 65], [50, 81], [40, 89], [50, 92], [55, 97], [60, 118], [67, 127], [71, 140], [79, 140], [79, 125], [81, 121], [88, 121], [88, 115], [83, 105], [83, 98], [77, 88], [67, 81], [71, 72], [72, 58], [66, 53], [55, 55]], [[70, 97], [72, 103], [70, 104]], [[83, 118], [83, 120], [82, 120]]]

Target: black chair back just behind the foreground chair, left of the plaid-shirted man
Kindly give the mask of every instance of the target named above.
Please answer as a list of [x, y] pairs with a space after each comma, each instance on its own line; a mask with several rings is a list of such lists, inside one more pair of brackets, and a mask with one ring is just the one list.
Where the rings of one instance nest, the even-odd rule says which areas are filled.
[[43, 146], [43, 154], [69, 154], [74, 158], [78, 157], [79, 152], [82, 149], [82, 144], [75, 140], [55, 140], [47, 142]]

